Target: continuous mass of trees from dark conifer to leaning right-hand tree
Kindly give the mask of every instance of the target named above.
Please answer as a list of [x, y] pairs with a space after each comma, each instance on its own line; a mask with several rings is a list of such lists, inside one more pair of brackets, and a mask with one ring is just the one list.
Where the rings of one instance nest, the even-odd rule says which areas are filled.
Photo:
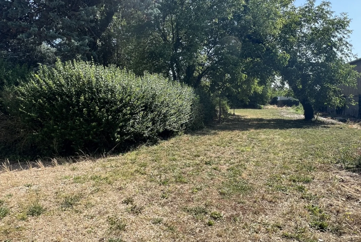
[[312, 119], [355, 85], [347, 15], [309, 0], [0, 0], [0, 54], [36, 66], [93, 60], [247, 99], [288, 85]]

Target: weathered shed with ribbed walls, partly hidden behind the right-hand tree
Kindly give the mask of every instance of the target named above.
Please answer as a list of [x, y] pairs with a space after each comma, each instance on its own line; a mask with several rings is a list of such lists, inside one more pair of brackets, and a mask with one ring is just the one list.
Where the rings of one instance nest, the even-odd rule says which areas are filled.
[[[354, 70], [361, 73], [361, 58], [351, 61], [350, 65], [356, 65]], [[356, 105], [345, 105], [344, 107], [336, 109], [328, 107], [327, 111], [334, 115], [350, 116], [354, 118], [361, 117], [361, 78], [357, 78], [356, 87], [341, 86], [341, 89], [344, 96], [353, 96], [353, 100], [356, 102]]]

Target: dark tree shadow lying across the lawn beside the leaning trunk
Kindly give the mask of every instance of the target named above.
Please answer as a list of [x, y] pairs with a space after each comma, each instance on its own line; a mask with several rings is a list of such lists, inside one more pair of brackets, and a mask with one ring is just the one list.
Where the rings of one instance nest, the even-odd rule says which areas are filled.
[[305, 128], [330, 128], [331, 123], [322, 121], [306, 121], [304, 119], [264, 119], [264, 118], [245, 118], [240, 115], [229, 116], [221, 124], [214, 124], [191, 135], [208, 135], [209, 131], [247, 131], [250, 129], [305, 129]]

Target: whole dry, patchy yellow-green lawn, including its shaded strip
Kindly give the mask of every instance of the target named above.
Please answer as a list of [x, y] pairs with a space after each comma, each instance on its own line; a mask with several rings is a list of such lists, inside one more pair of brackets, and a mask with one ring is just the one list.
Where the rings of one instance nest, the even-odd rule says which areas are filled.
[[361, 178], [335, 165], [360, 136], [269, 106], [118, 156], [2, 172], [0, 241], [361, 241]]

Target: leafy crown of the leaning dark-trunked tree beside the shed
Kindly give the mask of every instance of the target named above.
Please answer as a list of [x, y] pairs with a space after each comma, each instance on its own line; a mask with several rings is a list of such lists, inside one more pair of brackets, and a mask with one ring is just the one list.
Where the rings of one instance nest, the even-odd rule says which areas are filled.
[[303, 105], [311, 105], [310, 118], [312, 106], [343, 106], [340, 85], [355, 86], [358, 76], [348, 63], [353, 58], [348, 42], [351, 20], [344, 14], [334, 16], [329, 2], [315, 6], [313, 0], [291, 7], [285, 15], [278, 41], [290, 59], [280, 68], [283, 80]]

